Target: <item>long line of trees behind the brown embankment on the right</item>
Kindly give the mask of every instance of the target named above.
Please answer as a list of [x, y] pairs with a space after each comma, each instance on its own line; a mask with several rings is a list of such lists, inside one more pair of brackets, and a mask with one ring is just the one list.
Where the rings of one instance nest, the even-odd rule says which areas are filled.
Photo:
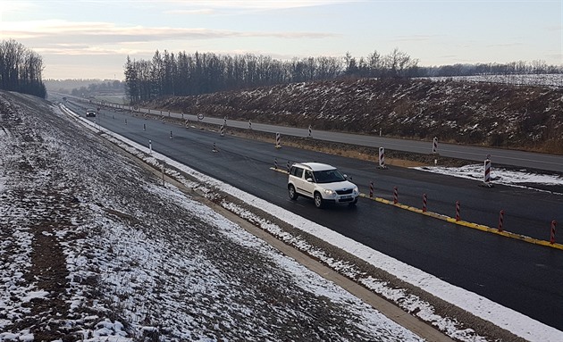
[[420, 67], [418, 60], [394, 49], [357, 59], [344, 57], [275, 60], [265, 55], [178, 54], [156, 51], [152, 60], [131, 60], [124, 67], [125, 88], [131, 104], [164, 96], [192, 96], [339, 78], [453, 77], [492, 74], [563, 73], [563, 66], [532, 63], [479, 63]]

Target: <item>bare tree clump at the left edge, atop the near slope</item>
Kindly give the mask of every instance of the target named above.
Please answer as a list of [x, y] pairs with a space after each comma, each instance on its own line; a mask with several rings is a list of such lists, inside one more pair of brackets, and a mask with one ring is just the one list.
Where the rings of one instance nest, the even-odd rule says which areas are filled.
[[15, 40], [0, 42], [0, 89], [46, 97], [43, 59]]

